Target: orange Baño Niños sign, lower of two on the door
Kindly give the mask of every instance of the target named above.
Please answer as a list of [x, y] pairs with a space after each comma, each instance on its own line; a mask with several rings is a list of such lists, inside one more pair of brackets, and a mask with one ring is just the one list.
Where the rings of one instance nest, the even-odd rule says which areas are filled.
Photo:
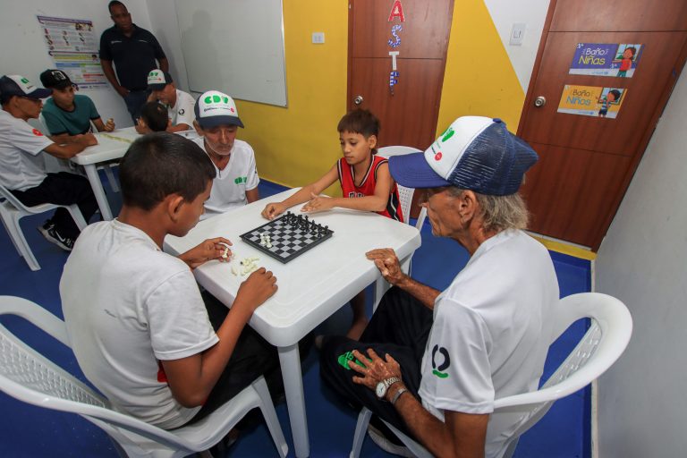
[[566, 84], [558, 103], [558, 113], [615, 118], [627, 89], [573, 86]]

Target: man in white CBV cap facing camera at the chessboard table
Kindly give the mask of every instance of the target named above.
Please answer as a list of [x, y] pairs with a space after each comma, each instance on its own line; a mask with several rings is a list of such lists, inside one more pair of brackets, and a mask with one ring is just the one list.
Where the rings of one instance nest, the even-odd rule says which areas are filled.
[[260, 180], [255, 154], [248, 143], [236, 140], [236, 131], [243, 123], [233, 98], [217, 90], [208, 90], [196, 101], [194, 112], [193, 126], [200, 135], [195, 141], [216, 169], [201, 219], [258, 200]]

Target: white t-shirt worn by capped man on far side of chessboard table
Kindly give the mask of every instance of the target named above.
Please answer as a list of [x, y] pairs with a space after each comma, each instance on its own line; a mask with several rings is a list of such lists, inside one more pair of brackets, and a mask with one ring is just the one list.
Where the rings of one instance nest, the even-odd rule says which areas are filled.
[[[193, 141], [206, 151], [205, 140], [202, 137]], [[205, 202], [205, 214], [200, 216], [200, 219], [207, 219], [246, 205], [246, 191], [254, 190], [260, 182], [253, 148], [243, 140], [234, 140], [229, 164], [225, 169], [219, 170], [215, 166], [215, 170], [216, 176], [212, 181], [210, 198]]]

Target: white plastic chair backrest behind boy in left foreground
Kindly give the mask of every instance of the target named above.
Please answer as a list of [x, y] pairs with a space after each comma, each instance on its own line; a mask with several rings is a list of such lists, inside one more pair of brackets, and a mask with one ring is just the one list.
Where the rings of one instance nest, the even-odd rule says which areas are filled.
[[[0, 315], [12, 314], [27, 319], [71, 347], [64, 321], [34, 302], [13, 296], [0, 296]], [[125, 431], [157, 443], [192, 450], [182, 437], [144, 421], [113, 411], [110, 403], [89, 386], [36, 352], [0, 325], [0, 390], [24, 403], [56, 411], [78, 413], [105, 429], [113, 437]], [[123, 431], [123, 430], [124, 431]]]

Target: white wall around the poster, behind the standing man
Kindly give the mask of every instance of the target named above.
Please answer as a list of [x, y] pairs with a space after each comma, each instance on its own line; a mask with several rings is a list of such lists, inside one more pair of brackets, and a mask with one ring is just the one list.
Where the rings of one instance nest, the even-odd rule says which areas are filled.
[[[99, 40], [103, 30], [113, 25], [107, 12], [108, 3], [108, 0], [2, 0], [0, 43], [3, 46], [0, 51], [0, 74], [21, 74], [40, 86], [40, 73], [48, 68], [55, 68], [55, 64], [47, 54], [36, 16], [93, 21], [95, 35]], [[134, 23], [150, 30], [146, 4], [136, 1], [124, 4], [127, 4]], [[82, 89], [80, 93], [93, 99], [104, 119], [114, 118], [118, 127], [131, 125], [131, 116], [126, 111], [123, 99], [109, 84], [106, 89]]]

